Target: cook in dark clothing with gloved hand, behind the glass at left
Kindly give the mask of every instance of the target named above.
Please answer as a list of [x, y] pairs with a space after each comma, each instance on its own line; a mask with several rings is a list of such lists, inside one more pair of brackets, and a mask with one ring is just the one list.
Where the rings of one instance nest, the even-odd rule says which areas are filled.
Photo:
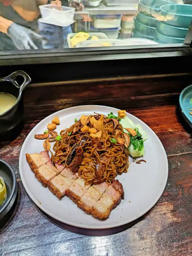
[[47, 3], [61, 6], [60, 0], [0, 0], [0, 49], [42, 48], [38, 7]]

